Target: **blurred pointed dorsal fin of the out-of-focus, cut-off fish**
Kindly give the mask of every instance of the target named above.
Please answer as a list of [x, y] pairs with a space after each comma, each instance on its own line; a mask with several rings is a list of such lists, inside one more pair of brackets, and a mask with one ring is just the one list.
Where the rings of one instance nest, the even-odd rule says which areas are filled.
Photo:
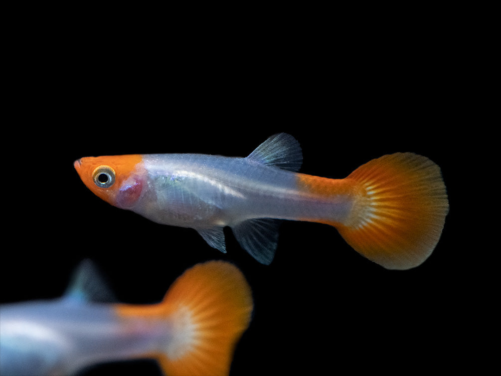
[[75, 302], [114, 302], [115, 295], [104, 282], [91, 260], [80, 263], [64, 299]]

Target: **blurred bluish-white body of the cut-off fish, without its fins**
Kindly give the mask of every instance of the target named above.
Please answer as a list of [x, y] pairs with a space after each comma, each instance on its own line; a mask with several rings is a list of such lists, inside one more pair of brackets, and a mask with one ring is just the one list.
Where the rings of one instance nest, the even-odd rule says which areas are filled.
[[2, 305], [0, 374], [74, 374], [140, 357], [169, 340], [165, 320], [119, 317], [112, 306], [65, 298]]

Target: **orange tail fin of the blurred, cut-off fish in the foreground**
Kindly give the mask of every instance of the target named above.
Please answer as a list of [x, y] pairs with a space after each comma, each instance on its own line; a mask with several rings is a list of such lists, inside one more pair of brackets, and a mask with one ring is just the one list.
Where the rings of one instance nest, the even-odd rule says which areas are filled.
[[234, 346], [248, 327], [252, 294], [242, 273], [222, 261], [188, 269], [165, 295], [172, 339], [159, 362], [166, 374], [228, 374]]

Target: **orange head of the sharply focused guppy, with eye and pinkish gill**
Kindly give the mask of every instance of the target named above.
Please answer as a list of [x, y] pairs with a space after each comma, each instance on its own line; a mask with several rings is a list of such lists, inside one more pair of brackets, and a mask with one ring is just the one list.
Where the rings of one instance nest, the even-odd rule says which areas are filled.
[[145, 184], [139, 154], [84, 157], [73, 165], [88, 189], [111, 205], [130, 209], [141, 196]]

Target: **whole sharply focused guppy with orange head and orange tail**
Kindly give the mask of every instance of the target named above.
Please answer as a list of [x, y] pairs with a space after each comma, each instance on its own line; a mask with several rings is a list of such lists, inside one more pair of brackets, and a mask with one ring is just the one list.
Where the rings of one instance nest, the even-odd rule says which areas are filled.
[[270, 137], [245, 158], [204, 154], [84, 157], [74, 165], [98, 197], [151, 221], [193, 228], [225, 250], [223, 228], [263, 264], [280, 220], [334, 226], [360, 254], [388, 269], [420, 265], [448, 212], [440, 168], [413, 153], [373, 159], [344, 179], [297, 173], [301, 147]]

